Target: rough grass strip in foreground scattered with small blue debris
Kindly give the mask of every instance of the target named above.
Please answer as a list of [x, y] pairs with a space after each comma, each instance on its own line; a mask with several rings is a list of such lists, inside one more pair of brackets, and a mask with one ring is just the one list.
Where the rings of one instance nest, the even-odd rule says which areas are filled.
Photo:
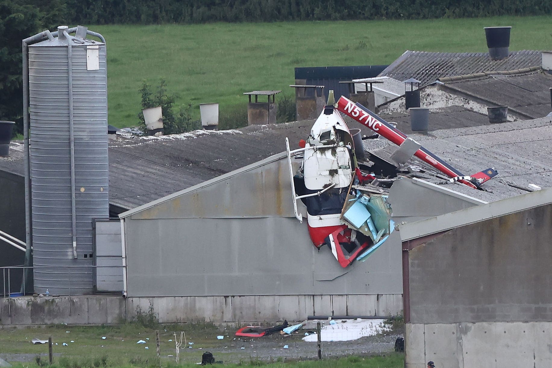
[[[196, 366], [201, 360], [201, 354], [206, 350], [214, 352], [216, 360], [222, 360], [224, 367], [258, 366], [270, 363], [270, 368], [402, 368], [404, 355], [391, 353], [385, 356], [360, 357], [348, 356], [341, 359], [324, 359], [322, 361], [289, 361], [285, 362], [285, 355], [276, 358], [259, 359], [251, 356], [249, 350], [229, 349], [221, 353], [222, 346], [231, 344], [243, 344], [249, 346], [253, 342], [241, 343], [233, 340], [233, 334], [227, 330], [217, 328], [212, 324], [182, 324], [182, 325], [158, 325], [160, 331], [161, 360], [156, 359], [155, 331], [152, 328], [143, 327], [137, 323], [126, 323], [118, 326], [68, 326], [50, 325], [43, 328], [18, 328], [0, 329], [0, 357], [14, 362], [21, 361], [16, 367], [48, 366], [47, 344], [33, 345], [30, 341], [34, 337], [47, 339], [57, 343], [53, 346], [54, 365], [52, 368], [99, 368], [99, 367], [140, 367], [140, 368], [176, 368]], [[187, 341], [193, 341], [192, 348], [183, 348], [180, 353], [180, 362], [177, 365], [174, 358], [173, 332], [180, 331], [186, 334]], [[67, 332], [68, 331], [68, 332]], [[225, 335], [224, 340], [217, 340], [216, 335]], [[301, 338], [301, 335], [290, 337], [285, 344], [290, 344], [291, 339]], [[102, 339], [105, 337], [105, 339]], [[146, 344], [136, 344], [138, 340], [146, 341]], [[72, 342], [71, 342], [72, 341]], [[183, 341], [184, 342], [184, 341]], [[282, 341], [279, 341], [282, 342]], [[273, 341], [270, 346], [278, 346], [279, 342]], [[66, 343], [67, 346], [64, 346]], [[262, 344], [262, 340], [256, 340], [254, 344]], [[327, 344], [327, 343], [324, 343]], [[145, 349], [146, 346], [148, 349]], [[183, 346], [188, 346], [183, 344]], [[232, 345], [233, 346], [233, 345]], [[315, 343], [312, 343], [314, 349]], [[258, 347], [258, 346], [257, 346]], [[258, 349], [256, 349], [258, 350]], [[268, 349], [273, 351], [272, 349]], [[237, 352], [236, 352], [237, 351]], [[272, 354], [272, 353], [270, 353]], [[23, 356], [25, 359], [22, 359]], [[37, 362], [36, 358], [40, 356]], [[229, 362], [233, 362], [230, 363]]]

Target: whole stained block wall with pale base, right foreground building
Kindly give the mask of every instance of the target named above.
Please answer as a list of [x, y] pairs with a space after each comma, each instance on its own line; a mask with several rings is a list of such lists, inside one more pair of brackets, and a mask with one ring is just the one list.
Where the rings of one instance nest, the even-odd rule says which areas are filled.
[[546, 204], [408, 251], [406, 366], [551, 366], [551, 223]]

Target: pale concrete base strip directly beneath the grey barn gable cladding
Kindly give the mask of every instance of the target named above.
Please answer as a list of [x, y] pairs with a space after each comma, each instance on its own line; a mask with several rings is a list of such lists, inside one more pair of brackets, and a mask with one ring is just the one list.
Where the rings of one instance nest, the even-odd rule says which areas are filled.
[[153, 307], [160, 322], [275, 322], [308, 316], [395, 316], [402, 295], [249, 295], [127, 298], [128, 318]]

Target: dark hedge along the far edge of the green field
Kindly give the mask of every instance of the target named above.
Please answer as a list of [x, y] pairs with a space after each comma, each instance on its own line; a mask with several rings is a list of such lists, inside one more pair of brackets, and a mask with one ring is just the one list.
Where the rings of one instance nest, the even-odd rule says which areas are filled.
[[66, 0], [67, 23], [158, 24], [552, 14], [552, 0]]

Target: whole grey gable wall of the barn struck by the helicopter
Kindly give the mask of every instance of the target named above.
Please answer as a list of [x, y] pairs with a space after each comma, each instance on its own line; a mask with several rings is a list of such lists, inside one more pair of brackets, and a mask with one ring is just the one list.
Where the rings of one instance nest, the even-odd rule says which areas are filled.
[[[123, 214], [128, 297], [257, 296], [262, 304], [294, 296], [280, 299], [300, 308], [314, 306], [316, 295], [357, 295], [351, 310], [360, 314], [376, 313], [372, 296], [393, 295], [392, 314], [399, 313], [400, 236], [366, 262], [343, 269], [330, 249], [314, 248], [306, 223], [294, 218], [284, 157], [269, 157]], [[259, 312], [242, 320], [272, 318], [268, 309]], [[331, 312], [347, 314], [347, 303], [336, 303]], [[240, 313], [230, 314], [245, 318]]]

